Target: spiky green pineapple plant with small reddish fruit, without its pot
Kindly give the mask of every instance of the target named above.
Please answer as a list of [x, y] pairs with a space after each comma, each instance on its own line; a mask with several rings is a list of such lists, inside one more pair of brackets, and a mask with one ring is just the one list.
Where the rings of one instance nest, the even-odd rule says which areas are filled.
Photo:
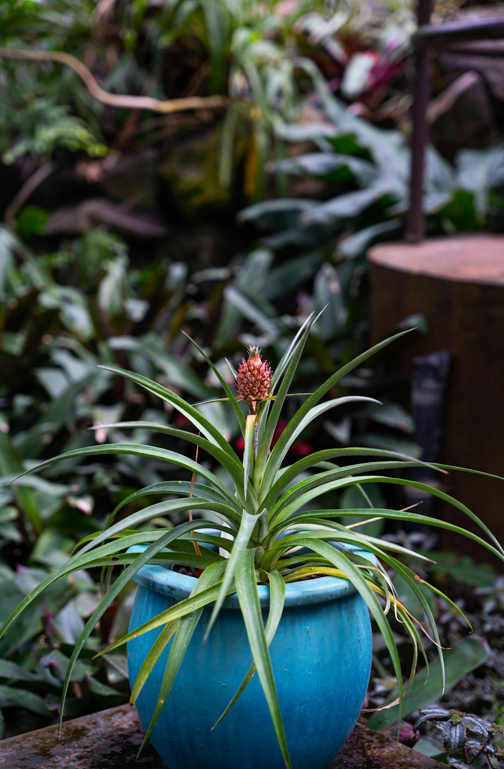
[[[124, 371], [114, 366], [103, 367], [170, 404], [170, 407], [193, 424], [195, 431], [150, 422], [123, 422], [115, 427], [147, 428], [195, 444], [196, 452], [208, 454], [214, 463], [225, 471], [224, 474], [217, 474], [209, 470], [206, 464], [199, 464], [193, 458], [187, 458], [176, 451], [134, 443], [104, 444], [67, 451], [35, 468], [44, 468], [53, 461], [81, 458], [89, 454], [136, 454], [146, 459], [152, 458], [177, 465], [183, 472], [180, 481], [166, 481], [147, 486], [121, 501], [110, 515], [104, 531], [84, 538], [68, 562], [41, 581], [38, 587], [21, 601], [2, 628], [3, 634], [25, 608], [58, 579], [81, 569], [102, 568], [103, 598], [87, 621], [71, 655], [64, 680], [60, 727], [64, 701], [77, 657], [104, 612], [144, 564], [163, 564], [166, 567], [181, 564], [197, 569], [200, 576], [190, 598], [173, 605], [100, 652], [103, 654], [126, 644], [133, 635], [136, 637], [153, 628], [163, 628], [150, 654], [147, 655], [137, 681], [133, 683], [133, 703], [156, 661], [166, 645], [171, 642], [159, 701], [143, 744], [156, 724], [163, 702], [166, 702], [170, 694], [170, 687], [203, 609], [211, 609], [206, 628], [206, 634], [209, 634], [226, 596], [236, 591], [253, 664], [221, 718], [241, 696], [257, 672], [287, 767], [291, 766], [291, 762], [268, 652], [268, 646], [282, 618], [286, 583], [298, 581], [307, 575], [333, 575], [351, 582], [366, 602], [387, 645], [397, 677], [399, 710], [404, 694], [413, 681], [419, 652], [427, 661], [422, 642], [424, 634], [436, 644], [443, 669], [443, 650], [430, 603], [424, 591], [420, 589], [419, 583], [422, 581], [398, 558], [405, 554], [416, 555], [417, 558], [421, 556], [397, 544], [365, 534], [365, 526], [364, 530], [361, 528], [362, 516], [369, 516], [374, 520], [382, 518], [407, 521], [410, 524], [430, 524], [464, 534], [502, 561], [504, 550], [483, 521], [460, 501], [435, 486], [397, 475], [400, 471], [425, 464], [405, 454], [377, 448], [329, 448], [315, 451], [292, 464], [289, 463], [289, 448], [301, 431], [321, 414], [351, 401], [372, 400], [357, 396], [331, 397], [324, 400], [324, 396], [333, 391], [341, 378], [402, 335], [398, 334], [380, 342], [331, 375], [302, 402], [278, 441], [274, 442], [273, 436], [282, 407], [288, 398], [296, 367], [315, 320], [316, 318], [311, 316], [301, 326], [274, 372], [266, 361], [262, 361], [259, 350], [250, 349], [249, 359], [244, 359], [239, 370], [234, 372], [235, 390], [229, 387], [205, 352], [193, 343], [222, 384], [226, 396], [223, 400], [229, 402], [230, 415], [239, 423], [245, 444], [242, 457], [216, 426], [195, 405], [189, 404], [180, 395], [132, 371]], [[344, 464], [341, 464], [341, 461]], [[429, 466], [435, 466], [441, 472], [463, 469], [446, 464]], [[394, 474], [388, 475], [387, 471], [393, 471]], [[199, 482], [195, 482], [196, 477]], [[460, 525], [446, 523], [414, 511], [383, 508], [370, 510], [373, 506], [366, 493], [366, 486], [376, 483], [408, 485], [433, 494], [452, 504], [461, 514], [478, 524], [481, 535], [473, 534]], [[334, 509], [312, 509], [314, 502], [316, 504], [322, 495], [351, 486], [357, 488], [363, 502], [360, 508], [345, 509], [344, 516], [345, 520], [358, 519], [357, 524], [338, 523], [338, 511]], [[150, 500], [156, 497], [162, 498], [162, 501]], [[146, 498], [143, 508], [124, 518], [118, 518], [118, 514], [127, 504], [137, 502], [140, 498]], [[199, 510], [212, 511], [212, 520], [193, 520], [189, 511]], [[154, 518], [181, 511], [187, 511], [189, 520], [173, 528], [140, 530], [140, 527], [145, 527], [145, 524]], [[220, 522], [216, 523], [215, 518]], [[221, 531], [226, 536], [220, 537], [202, 531], [209, 528]], [[147, 544], [147, 548], [141, 552], [128, 552], [129, 548], [137, 544]], [[217, 547], [217, 550], [207, 548], [207, 544]], [[364, 548], [376, 559], [371, 562], [351, 551], [348, 545]], [[112, 581], [113, 569], [117, 564], [122, 564], [124, 570]], [[408, 608], [397, 600], [394, 574], [407, 583], [423, 608], [423, 617], [414, 617]], [[265, 626], [259, 606], [258, 584], [266, 584], [270, 589], [268, 620]], [[423, 588], [430, 588], [434, 593], [442, 595], [456, 611], [460, 611], [456, 604], [437, 588], [425, 582]], [[413, 664], [406, 676], [401, 670], [394, 634], [389, 624], [390, 617], [403, 623], [413, 644]]]

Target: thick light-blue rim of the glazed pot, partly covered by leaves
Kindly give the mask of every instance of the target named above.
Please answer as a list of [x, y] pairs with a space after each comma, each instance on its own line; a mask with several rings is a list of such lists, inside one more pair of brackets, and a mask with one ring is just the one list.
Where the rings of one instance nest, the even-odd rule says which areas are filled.
[[[128, 553], [140, 553], [148, 547], [147, 544], [135, 544], [128, 548]], [[357, 548], [354, 545], [342, 545], [341, 550], [350, 550], [362, 554], [376, 564], [376, 558], [369, 551]], [[133, 580], [143, 588], [148, 588], [160, 595], [166, 595], [174, 601], [183, 601], [189, 595], [196, 584], [196, 577], [187, 574], [179, 574], [171, 568], [160, 564], [145, 564], [134, 575]], [[285, 585], [285, 607], [301, 606], [303, 604], [324, 604], [328, 601], [336, 601], [357, 592], [357, 588], [342, 577], [319, 577], [303, 582], [289, 582]], [[266, 584], [258, 585], [259, 602], [262, 608], [269, 606], [269, 587]], [[229, 595], [223, 608], [239, 608], [239, 599], [236, 593]]]

